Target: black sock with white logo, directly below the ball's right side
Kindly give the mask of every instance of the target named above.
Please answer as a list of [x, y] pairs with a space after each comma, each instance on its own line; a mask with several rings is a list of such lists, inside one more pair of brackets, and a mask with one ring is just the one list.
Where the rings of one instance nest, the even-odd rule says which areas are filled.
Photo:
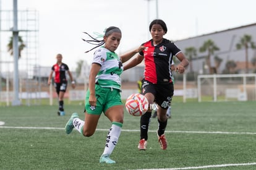
[[140, 117], [140, 139], [148, 140], [148, 125], [150, 124], [151, 112], [146, 112]]

